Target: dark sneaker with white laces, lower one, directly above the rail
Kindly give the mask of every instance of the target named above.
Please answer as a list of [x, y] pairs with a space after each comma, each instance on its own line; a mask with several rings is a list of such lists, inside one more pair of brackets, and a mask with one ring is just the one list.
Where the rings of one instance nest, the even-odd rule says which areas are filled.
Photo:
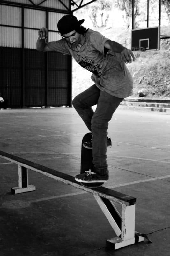
[[78, 174], [75, 176], [75, 180], [82, 183], [98, 183], [106, 182], [109, 179], [109, 176], [106, 174], [104, 176], [99, 175], [96, 172], [85, 171], [85, 173]]

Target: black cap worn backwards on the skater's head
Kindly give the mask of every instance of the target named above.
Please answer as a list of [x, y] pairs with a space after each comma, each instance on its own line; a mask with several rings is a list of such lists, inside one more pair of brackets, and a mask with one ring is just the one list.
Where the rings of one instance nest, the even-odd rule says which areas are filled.
[[74, 15], [65, 15], [58, 21], [57, 28], [62, 35], [67, 34], [79, 28], [84, 21], [84, 19], [78, 20]]

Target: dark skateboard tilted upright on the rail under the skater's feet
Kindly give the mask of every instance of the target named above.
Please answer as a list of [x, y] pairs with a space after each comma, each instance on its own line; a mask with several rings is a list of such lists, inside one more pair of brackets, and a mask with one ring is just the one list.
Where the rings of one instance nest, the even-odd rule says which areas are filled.
[[[92, 149], [85, 148], [83, 143], [86, 141], [90, 141], [92, 139], [92, 132], [86, 133], [82, 139], [81, 143], [81, 168], [80, 174], [85, 173], [85, 171], [89, 171], [93, 169], [93, 156]], [[80, 182], [81, 185], [87, 188], [98, 188], [101, 187], [104, 182], [94, 182], [94, 183], [84, 183]]]

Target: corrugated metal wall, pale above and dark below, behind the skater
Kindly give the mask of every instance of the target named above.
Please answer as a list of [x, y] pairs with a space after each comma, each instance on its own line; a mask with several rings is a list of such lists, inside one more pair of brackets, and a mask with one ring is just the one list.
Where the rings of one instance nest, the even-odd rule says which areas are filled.
[[[69, 8], [69, 1], [62, 1], [66, 6], [58, 0], [45, 1], [41, 6], [61, 9], [62, 12]], [[48, 41], [61, 39], [57, 22], [65, 14], [23, 5], [30, 4], [30, 1], [12, 2], [22, 6], [0, 4], [0, 52], [3, 60], [0, 91], [8, 99], [8, 107], [70, 105], [70, 56], [36, 50], [38, 30], [46, 24]], [[41, 1], [32, 2], [39, 4]]]

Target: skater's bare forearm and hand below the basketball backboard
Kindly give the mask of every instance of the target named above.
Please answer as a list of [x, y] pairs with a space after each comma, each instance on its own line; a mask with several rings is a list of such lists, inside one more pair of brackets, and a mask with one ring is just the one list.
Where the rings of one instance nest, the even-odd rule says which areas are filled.
[[115, 41], [107, 40], [104, 44], [104, 47], [113, 52], [121, 53], [122, 60], [125, 63], [131, 63], [132, 59], [133, 61], [135, 60], [135, 56], [133, 55], [133, 52], [131, 50], [127, 49], [122, 44], [119, 44]]

